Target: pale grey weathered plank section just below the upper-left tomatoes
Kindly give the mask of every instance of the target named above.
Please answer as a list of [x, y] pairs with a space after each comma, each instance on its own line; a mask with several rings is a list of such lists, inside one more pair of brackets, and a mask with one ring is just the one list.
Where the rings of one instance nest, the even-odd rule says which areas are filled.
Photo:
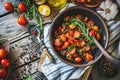
[[17, 24], [17, 17], [14, 14], [0, 18], [0, 38], [9, 38], [26, 30]]

